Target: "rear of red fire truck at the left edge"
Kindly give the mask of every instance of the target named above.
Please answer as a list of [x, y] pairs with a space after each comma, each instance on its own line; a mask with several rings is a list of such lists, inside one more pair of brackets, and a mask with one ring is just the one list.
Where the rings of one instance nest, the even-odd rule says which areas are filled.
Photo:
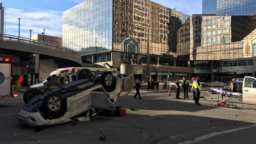
[[13, 94], [12, 67], [12, 55], [0, 54], [0, 99], [18, 96]]

